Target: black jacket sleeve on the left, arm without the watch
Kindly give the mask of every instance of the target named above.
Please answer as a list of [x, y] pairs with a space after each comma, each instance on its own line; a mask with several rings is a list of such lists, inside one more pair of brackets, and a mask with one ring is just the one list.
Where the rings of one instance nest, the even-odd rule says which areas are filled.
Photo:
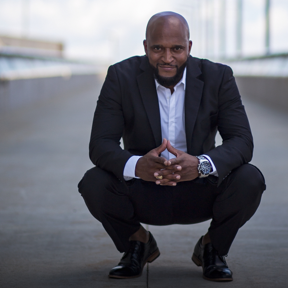
[[112, 172], [122, 182], [125, 164], [133, 156], [120, 147], [123, 130], [121, 87], [115, 68], [110, 66], [94, 113], [89, 156], [94, 165]]

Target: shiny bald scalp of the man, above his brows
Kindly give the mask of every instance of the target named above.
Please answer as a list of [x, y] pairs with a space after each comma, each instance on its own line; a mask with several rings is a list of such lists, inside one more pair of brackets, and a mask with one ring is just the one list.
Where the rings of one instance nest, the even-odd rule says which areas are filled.
[[169, 28], [177, 29], [179, 33], [185, 35], [187, 40], [189, 40], [190, 32], [187, 21], [180, 14], [170, 11], [157, 13], [150, 18], [146, 28], [146, 39], [159, 30]]

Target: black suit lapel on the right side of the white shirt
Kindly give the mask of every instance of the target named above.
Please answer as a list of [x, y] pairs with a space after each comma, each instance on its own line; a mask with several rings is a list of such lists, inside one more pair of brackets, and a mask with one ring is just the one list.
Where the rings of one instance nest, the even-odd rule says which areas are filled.
[[186, 87], [185, 87], [185, 132], [187, 153], [191, 153], [191, 141], [194, 125], [196, 122], [204, 82], [196, 77], [201, 74], [201, 70], [197, 63], [190, 56], [186, 70]]

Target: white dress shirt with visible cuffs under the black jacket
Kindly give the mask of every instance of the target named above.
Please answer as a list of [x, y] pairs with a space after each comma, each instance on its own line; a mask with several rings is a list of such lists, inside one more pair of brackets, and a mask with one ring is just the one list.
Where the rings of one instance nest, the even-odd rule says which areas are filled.
[[[171, 95], [171, 90], [160, 85], [156, 80], [156, 90], [160, 108], [160, 119], [161, 119], [161, 131], [162, 139], [166, 138], [170, 140], [173, 147], [187, 153], [186, 134], [185, 134], [185, 88], [186, 88], [186, 68], [183, 72], [182, 79], [174, 87], [174, 92]], [[166, 149], [161, 153], [161, 156], [167, 160], [176, 158], [175, 155], [168, 152]], [[213, 172], [210, 175], [218, 177], [218, 173], [211, 158], [207, 155], [206, 157], [213, 168]], [[135, 167], [139, 158], [142, 156], [132, 156], [126, 162], [124, 167], [123, 176], [124, 179], [131, 180], [135, 177]]]

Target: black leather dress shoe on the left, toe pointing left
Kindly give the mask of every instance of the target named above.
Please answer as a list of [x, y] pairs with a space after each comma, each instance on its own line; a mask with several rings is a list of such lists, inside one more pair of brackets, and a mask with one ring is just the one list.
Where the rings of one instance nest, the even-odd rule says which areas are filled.
[[129, 251], [124, 253], [119, 264], [110, 270], [109, 277], [124, 279], [140, 277], [145, 264], [153, 262], [159, 255], [157, 243], [151, 233], [146, 244], [130, 241]]

